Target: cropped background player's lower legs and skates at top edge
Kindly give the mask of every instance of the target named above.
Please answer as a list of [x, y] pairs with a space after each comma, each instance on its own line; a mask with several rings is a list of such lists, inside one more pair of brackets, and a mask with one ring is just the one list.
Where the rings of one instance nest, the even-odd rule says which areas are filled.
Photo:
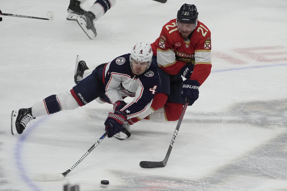
[[93, 38], [97, 36], [94, 21], [100, 19], [100, 17], [112, 8], [116, 4], [116, 0], [97, 0], [88, 11], [84, 10], [81, 6], [85, 1], [86, 0], [70, 0], [67, 9], [67, 20], [77, 20], [77, 23], [86, 35], [93, 40]]

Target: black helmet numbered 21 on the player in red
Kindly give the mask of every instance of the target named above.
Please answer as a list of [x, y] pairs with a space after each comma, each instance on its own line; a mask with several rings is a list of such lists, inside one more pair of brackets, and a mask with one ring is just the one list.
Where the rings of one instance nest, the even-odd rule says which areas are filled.
[[196, 23], [198, 12], [195, 5], [183, 4], [177, 12], [177, 21], [182, 23]]

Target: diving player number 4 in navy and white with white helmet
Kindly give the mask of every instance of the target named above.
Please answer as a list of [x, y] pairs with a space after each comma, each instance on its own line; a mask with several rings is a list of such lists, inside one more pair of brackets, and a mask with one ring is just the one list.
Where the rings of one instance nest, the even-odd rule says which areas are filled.
[[[105, 130], [109, 130], [108, 137], [120, 133], [124, 127], [129, 127], [128, 119], [138, 116], [143, 118], [151, 113], [150, 106], [160, 83], [158, 67], [152, 64], [152, 55], [150, 44], [138, 42], [130, 54], [100, 64], [79, 82], [77, 73], [83, 73], [88, 67], [84, 61], [77, 62], [75, 73], [77, 85], [70, 91], [48, 96], [30, 108], [12, 111], [12, 135], [21, 134], [28, 122], [36, 117], [61, 110], [74, 110], [97, 98], [114, 105], [114, 112], [108, 114], [104, 123]], [[133, 97], [129, 103], [123, 100], [127, 96]], [[117, 138], [126, 137], [122, 138], [118, 134]]]

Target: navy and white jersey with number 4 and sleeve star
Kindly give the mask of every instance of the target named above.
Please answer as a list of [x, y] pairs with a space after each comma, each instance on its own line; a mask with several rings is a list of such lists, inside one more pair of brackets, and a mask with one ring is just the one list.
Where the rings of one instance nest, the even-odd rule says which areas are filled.
[[151, 64], [144, 73], [134, 75], [129, 56], [130, 54], [119, 56], [104, 68], [105, 94], [112, 104], [118, 100], [123, 101], [123, 97], [133, 97], [133, 100], [121, 109], [128, 119], [142, 115], [150, 108], [156, 88], [160, 84], [158, 66]]

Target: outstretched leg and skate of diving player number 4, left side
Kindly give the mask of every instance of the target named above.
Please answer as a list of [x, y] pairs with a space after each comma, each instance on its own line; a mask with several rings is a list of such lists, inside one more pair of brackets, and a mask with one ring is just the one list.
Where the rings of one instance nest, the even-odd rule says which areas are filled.
[[72, 90], [58, 95], [51, 95], [37, 102], [31, 108], [14, 110], [11, 114], [12, 135], [23, 133], [26, 125], [32, 119], [57, 113], [61, 110], [74, 110], [83, 106], [104, 93], [103, 67], [98, 66], [91, 75], [84, 78]]

